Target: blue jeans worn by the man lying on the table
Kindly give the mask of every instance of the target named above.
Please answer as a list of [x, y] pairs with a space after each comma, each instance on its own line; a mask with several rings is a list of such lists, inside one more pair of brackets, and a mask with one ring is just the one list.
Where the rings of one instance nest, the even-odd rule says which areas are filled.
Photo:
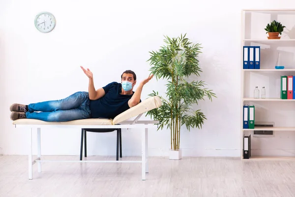
[[31, 103], [27, 118], [47, 122], [63, 122], [90, 118], [88, 92], [76, 92], [71, 96], [44, 102]]

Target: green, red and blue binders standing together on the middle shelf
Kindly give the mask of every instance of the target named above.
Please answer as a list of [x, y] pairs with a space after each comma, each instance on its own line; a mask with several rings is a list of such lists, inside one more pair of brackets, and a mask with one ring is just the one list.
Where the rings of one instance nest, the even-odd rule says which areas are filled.
[[295, 76], [281, 76], [281, 99], [295, 99]]

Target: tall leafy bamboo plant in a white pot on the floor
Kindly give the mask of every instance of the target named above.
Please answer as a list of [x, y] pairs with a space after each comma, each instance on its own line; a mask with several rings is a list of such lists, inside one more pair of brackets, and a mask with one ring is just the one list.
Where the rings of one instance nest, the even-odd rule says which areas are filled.
[[[216, 97], [212, 90], [205, 87], [204, 81], [188, 82], [188, 77], [198, 77], [202, 72], [197, 59], [201, 53], [200, 44], [193, 44], [185, 35], [177, 38], [165, 36], [165, 45], [158, 51], [150, 53], [150, 71], [156, 79], [167, 79], [166, 97], [153, 91], [149, 96], [162, 99], [162, 106], [147, 112], [155, 120], [159, 120], [159, 128], [171, 130], [170, 159], [181, 159], [180, 128], [185, 125], [190, 128], [202, 128], [206, 116], [200, 109], [193, 110], [191, 105], [198, 104], [198, 100], [206, 96], [212, 101]], [[180, 150], [180, 151], [179, 151]]]

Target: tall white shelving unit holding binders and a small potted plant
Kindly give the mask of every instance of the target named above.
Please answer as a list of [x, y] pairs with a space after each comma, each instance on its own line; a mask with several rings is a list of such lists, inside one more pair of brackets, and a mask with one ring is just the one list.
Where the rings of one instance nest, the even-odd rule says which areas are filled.
[[[283, 134], [286, 131], [295, 131], [294, 116], [289, 117], [293, 125], [287, 124], [284, 127], [284, 122], [277, 121], [274, 117], [263, 117], [260, 113], [260, 120], [256, 119], [256, 114], [259, 110], [267, 110], [267, 106], [271, 106], [276, 112], [279, 112], [280, 105], [292, 107], [295, 105], [295, 99], [280, 99], [280, 90], [278, 91], [278, 84], [280, 84], [281, 75], [295, 75], [295, 33], [292, 28], [295, 26], [295, 9], [243, 9], [241, 13], [242, 29], [241, 29], [241, 160], [244, 161], [289, 161], [295, 160], [295, 153], [292, 157], [285, 156], [254, 156], [251, 150], [250, 159], [243, 159], [243, 136], [245, 132], [251, 134], [253, 139], [253, 131], [274, 131]], [[286, 26], [282, 33], [281, 39], [267, 39], [266, 25], [271, 21], [276, 20]], [[290, 31], [288, 31], [290, 30]], [[260, 68], [261, 69], [243, 69], [243, 46], [261, 46]], [[287, 47], [287, 50], [283, 50]], [[285, 53], [287, 58], [283, 58], [282, 65], [285, 69], [275, 69], [277, 66], [277, 53]], [[293, 60], [292, 57], [293, 55]], [[289, 58], [289, 59], [288, 59]], [[288, 62], [289, 61], [289, 62]], [[258, 81], [256, 83], [256, 80]], [[266, 99], [254, 99], [254, 88], [256, 84], [268, 84], [269, 87], [266, 93]], [[263, 85], [262, 85], [263, 86]], [[265, 85], [266, 86], [266, 85]], [[271, 86], [271, 87], [270, 87]], [[276, 87], [273, 87], [276, 86]], [[273, 87], [273, 88], [272, 88]], [[280, 87], [279, 87], [280, 88]], [[261, 87], [260, 95], [261, 95]], [[268, 98], [267, 98], [268, 96]], [[261, 97], [260, 97], [261, 98]], [[275, 122], [275, 127], [255, 127], [254, 129], [243, 129], [243, 106], [244, 104], [255, 105], [255, 122]], [[262, 105], [265, 105], [261, 107]], [[256, 107], [258, 106], [258, 107]], [[277, 108], [275, 108], [278, 106]], [[286, 107], [286, 108], [287, 108]], [[295, 107], [294, 107], [295, 111]], [[267, 120], [264, 120], [267, 119]], [[271, 119], [271, 120], [269, 120]], [[276, 124], [276, 121], [279, 124]], [[288, 120], [285, 120], [288, 121]], [[291, 122], [289, 122], [291, 123]], [[276, 125], [279, 125], [276, 127]], [[295, 132], [294, 132], [295, 133]], [[252, 146], [251, 139], [251, 146]], [[260, 138], [262, 139], [262, 138]], [[256, 143], [259, 143], [259, 138], [256, 138]], [[272, 138], [273, 140], [273, 138]], [[295, 140], [294, 140], [295, 144]], [[253, 147], [253, 146], [252, 146]], [[263, 149], [263, 147], [261, 147]], [[269, 154], [268, 154], [269, 155]], [[294, 155], [294, 157], [293, 157]]]

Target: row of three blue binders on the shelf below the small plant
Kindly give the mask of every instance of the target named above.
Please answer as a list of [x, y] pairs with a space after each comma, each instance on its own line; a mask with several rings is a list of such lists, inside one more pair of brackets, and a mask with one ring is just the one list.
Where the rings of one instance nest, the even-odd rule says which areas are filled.
[[260, 46], [243, 46], [243, 69], [260, 69]]

